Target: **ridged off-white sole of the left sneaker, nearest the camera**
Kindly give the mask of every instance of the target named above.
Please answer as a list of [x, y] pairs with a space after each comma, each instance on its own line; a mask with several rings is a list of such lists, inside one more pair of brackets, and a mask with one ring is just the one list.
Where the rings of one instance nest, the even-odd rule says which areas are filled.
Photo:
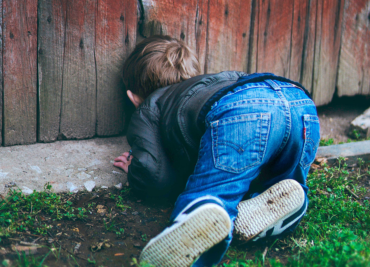
[[156, 267], [187, 267], [228, 236], [231, 220], [221, 206], [207, 203], [168, 227], [144, 247], [139, 262]]

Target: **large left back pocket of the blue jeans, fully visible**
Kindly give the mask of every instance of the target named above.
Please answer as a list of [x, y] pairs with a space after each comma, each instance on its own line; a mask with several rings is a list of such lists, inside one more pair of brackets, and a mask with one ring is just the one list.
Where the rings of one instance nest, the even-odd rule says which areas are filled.
[[270, 118], [270, 113], [252, 113], [212, 122], [215, 167], [240, 173], [261, 163], [265, 155]]

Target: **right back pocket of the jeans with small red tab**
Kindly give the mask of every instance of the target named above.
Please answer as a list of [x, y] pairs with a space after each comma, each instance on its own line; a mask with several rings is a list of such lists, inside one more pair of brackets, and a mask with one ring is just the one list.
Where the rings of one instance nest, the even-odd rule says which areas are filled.
[[305, 114], [303, 115], [303, 138], [305, 144], [303, 145], [302, 156], [300, 159], [300, 165], [303, 169], [311, 166], [315, 160], [317, 148], [320, 143], [320, 124], [319, 117], [316, 115]]

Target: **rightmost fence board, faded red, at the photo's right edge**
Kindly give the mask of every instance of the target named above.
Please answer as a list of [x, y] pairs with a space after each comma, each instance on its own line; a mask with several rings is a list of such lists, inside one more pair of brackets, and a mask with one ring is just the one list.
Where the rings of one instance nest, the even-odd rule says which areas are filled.
[[370, 95], [370, 1], [346, 0], [337, 88], [338, 95]]

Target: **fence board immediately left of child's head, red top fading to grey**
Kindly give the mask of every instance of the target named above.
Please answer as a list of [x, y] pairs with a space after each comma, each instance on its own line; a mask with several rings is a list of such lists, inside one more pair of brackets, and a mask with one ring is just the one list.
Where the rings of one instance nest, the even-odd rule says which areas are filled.
[[95, 15], [97, 72], [97, 124], [99, 136], [121, 133], [124, 92], [121, 69], [134, 49], [137, 26], [136, 0], [98, 0]]

